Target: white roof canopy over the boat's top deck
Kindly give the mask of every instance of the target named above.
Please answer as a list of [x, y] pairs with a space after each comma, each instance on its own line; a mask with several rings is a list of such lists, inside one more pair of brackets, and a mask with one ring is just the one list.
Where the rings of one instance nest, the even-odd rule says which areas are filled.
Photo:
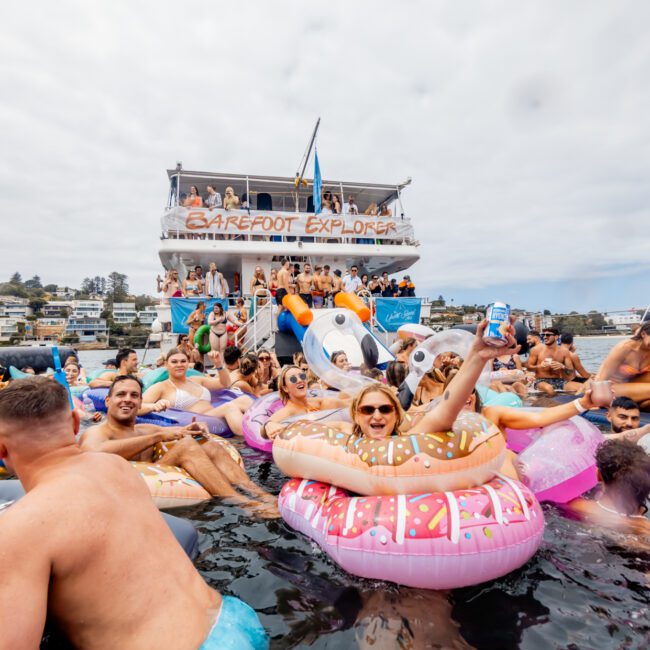
[[[190, 185], [196, 185], [201, 196], [206, 195], [206, 186], [214, 184], [215, 189], [222, 196], [226, 187], [230, 186], [239, 197], [246, 194], [247, 188], [250, 190], [252, 204], [254, 207], [256, 195], [265, 193], [269, 194], [273, 200], [274, 210], [295, 210], [295, 193], [296, 178], [291, 176], [257, 176], [254, 174], [222, 174], [212, 172], [189, 171], [185, 169], [168, 169], [167, 176], [170, 181], [173, 177], [180, 174], [180, 193], [189, 193]], [[307, 202], [313, 191], [313, 180], [304, 179], [307, 183], [300, 186], [300, 206], [307, 211]], [[322, 181], [323, 191], [329, 190], [333, 194], [341, 194], [341, 188], [344, 196], [339, 197], [341, 203], [347, 203], [348, 197], [352, 195], [359, 208], [363, 211], [371, 204], [376, 203], [390, 204], [395, 201], [399, 193], [410, 185], [411, 179], [408, 178], [402, 183], [358, 183], [351, 181]], [[300, 211], [303, 211], [302, 209]]]

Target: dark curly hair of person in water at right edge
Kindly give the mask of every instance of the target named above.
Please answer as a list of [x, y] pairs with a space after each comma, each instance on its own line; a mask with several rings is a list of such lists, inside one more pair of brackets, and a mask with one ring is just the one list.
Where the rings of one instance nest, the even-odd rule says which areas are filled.
[[596, 467], [603, 483], [616, 486], [623, 499], [647, 512], [650, 495], [650, 456], [631, 440], [606, 440], [596, 450]]

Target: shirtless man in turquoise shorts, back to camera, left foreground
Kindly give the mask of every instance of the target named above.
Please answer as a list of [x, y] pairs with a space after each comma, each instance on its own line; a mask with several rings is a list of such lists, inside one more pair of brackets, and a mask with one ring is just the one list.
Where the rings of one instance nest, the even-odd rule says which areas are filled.
[[[266, 648], [255, 613], [206, 585], [138, 473], [114, 454], [82, 452], [78, 431], [57, 382], [22, 379], [0, 391], [0, 458], [27, 491], [0, 515], [0, 612], [10, 617], [2, 647], [38, 648], [49, 616], [85, 650], [194, 650], [225, 639]], [[242, 606], [242, 638], [228, 638], [228, 612]]]

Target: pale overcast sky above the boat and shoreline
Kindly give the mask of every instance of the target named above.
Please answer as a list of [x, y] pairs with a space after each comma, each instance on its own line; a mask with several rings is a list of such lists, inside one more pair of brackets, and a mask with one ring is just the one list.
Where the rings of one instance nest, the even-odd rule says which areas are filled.
[[413, 178], [418, 294], [650, 302], [650, 4], [30, 2], [0, 24], [0, 276], [154, 291], [165, 170]]

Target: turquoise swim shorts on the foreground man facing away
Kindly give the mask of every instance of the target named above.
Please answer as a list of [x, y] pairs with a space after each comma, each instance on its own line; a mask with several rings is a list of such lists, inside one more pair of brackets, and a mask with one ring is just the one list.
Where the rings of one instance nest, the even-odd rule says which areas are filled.
[[232, 596], [224, 596], [221, 610], [199, 650], [267, 650], [269, 638], [255, 610]]

